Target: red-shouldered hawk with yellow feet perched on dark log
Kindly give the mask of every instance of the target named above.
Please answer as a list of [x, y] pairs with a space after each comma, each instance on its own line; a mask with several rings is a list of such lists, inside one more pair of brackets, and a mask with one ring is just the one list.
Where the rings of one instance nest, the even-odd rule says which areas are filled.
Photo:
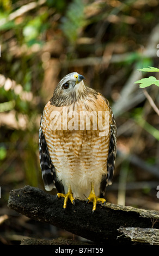
[[93, 201], [94, 212], [97, 202], [106, 202], [105, 188], [112, 184], [117, 127], [108, 100], [85, 87], [84, 79], [77, 72], [66, 75], [46, 104], [39, 129], [40, 166], [45, 189], [56, 186], [64, 209], [68, 199], [74, 204], [78, 197]]

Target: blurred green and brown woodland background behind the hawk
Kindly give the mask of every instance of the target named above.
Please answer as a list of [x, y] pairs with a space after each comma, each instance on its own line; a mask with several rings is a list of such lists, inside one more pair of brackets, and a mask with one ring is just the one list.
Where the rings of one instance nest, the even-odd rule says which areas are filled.
[[[107, 201], [159, 210], [158, 114], [144, 93], [157, 107], [159, 78], [154, 70], [139, 71], [159, 68], [158, 11], [157, 0], [0, 2], [0, 243], [19, 244], [29, 235], [71, 236], [16, 215], [7, 201], [15, 188], [44, 189], [40, 116], [58, 81], [72, 71], [107, 97], [117, 122], [117, 162]], [[157, 86], [139, 88], [148, 77]]]

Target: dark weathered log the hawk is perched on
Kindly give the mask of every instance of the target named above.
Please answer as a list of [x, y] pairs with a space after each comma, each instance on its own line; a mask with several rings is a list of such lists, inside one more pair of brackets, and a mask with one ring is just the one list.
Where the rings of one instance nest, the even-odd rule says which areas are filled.
[[125, 239], [120, 233], [121, 227], [159, 229], [158, 211], [106, 203], [97, 204], [92, 214], [92, 204], [85, 206], [85, 202], [78, 199], [75, 206], [68, 201], [64, 211], [63, 198], [57, 200], [56, 196], [30, 186], [10, 191], [8, 206], [36, 221], [50, 223], [100, 244], [131, 245], [131, 236]]

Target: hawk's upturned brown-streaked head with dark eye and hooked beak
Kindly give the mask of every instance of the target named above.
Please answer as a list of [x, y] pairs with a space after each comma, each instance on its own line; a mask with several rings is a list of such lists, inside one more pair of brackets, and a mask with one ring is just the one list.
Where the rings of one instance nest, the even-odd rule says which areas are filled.
[[54, 89], [51, 103], [57, 107], [71, 105], [86, 94], [83, 83], [84, 76], [72, 72], [62, 78]]

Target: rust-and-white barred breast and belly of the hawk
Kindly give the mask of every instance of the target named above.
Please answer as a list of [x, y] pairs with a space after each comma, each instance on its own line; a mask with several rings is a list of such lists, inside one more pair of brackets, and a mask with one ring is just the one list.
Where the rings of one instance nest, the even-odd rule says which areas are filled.
[[[100, 119], [95, 119], [94, 115], [81, 118], [81, 112], [89, 115], [99, 111], [103, 113]], [[105, 112], [108, 117], [106, 136], [100, 136]], [[74, 113], [72, 117], [71, 113]], [[101, 94], [62, 107], [56, 107], [49, 101], [40, 127], [54, 166], [53, 175], [64, 190], [71, 185], [75, 197], [85, 198], [90, 192], [90, 182], [93, 182], [96, 194], [103, 192], [112, 180], [117, 138], [108, 101]]]

